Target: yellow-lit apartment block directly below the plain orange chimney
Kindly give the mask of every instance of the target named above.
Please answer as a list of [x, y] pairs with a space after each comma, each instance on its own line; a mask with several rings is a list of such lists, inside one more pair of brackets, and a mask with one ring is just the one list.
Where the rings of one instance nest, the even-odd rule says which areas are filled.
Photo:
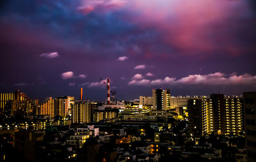
[[72, 106], [72, 122], [86, 123], [93, 121], [93, 108], [96, 107], [95, 103], [88, 101], [77, 100]]

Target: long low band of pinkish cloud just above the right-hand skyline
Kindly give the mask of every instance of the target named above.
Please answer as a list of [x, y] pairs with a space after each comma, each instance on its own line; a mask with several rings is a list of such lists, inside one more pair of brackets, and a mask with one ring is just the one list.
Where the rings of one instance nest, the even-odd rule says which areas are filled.
[[180, 79], [166, 77], [164, 79], [147, 80], [147, 82], [140, 82], [141, 80], [131, 80], [129, 85], [256, 85], [256, 75], [237, 76], [236, 74], [225, 75], [224, 73], [211, 73], [207, 75], [189, 75]]

